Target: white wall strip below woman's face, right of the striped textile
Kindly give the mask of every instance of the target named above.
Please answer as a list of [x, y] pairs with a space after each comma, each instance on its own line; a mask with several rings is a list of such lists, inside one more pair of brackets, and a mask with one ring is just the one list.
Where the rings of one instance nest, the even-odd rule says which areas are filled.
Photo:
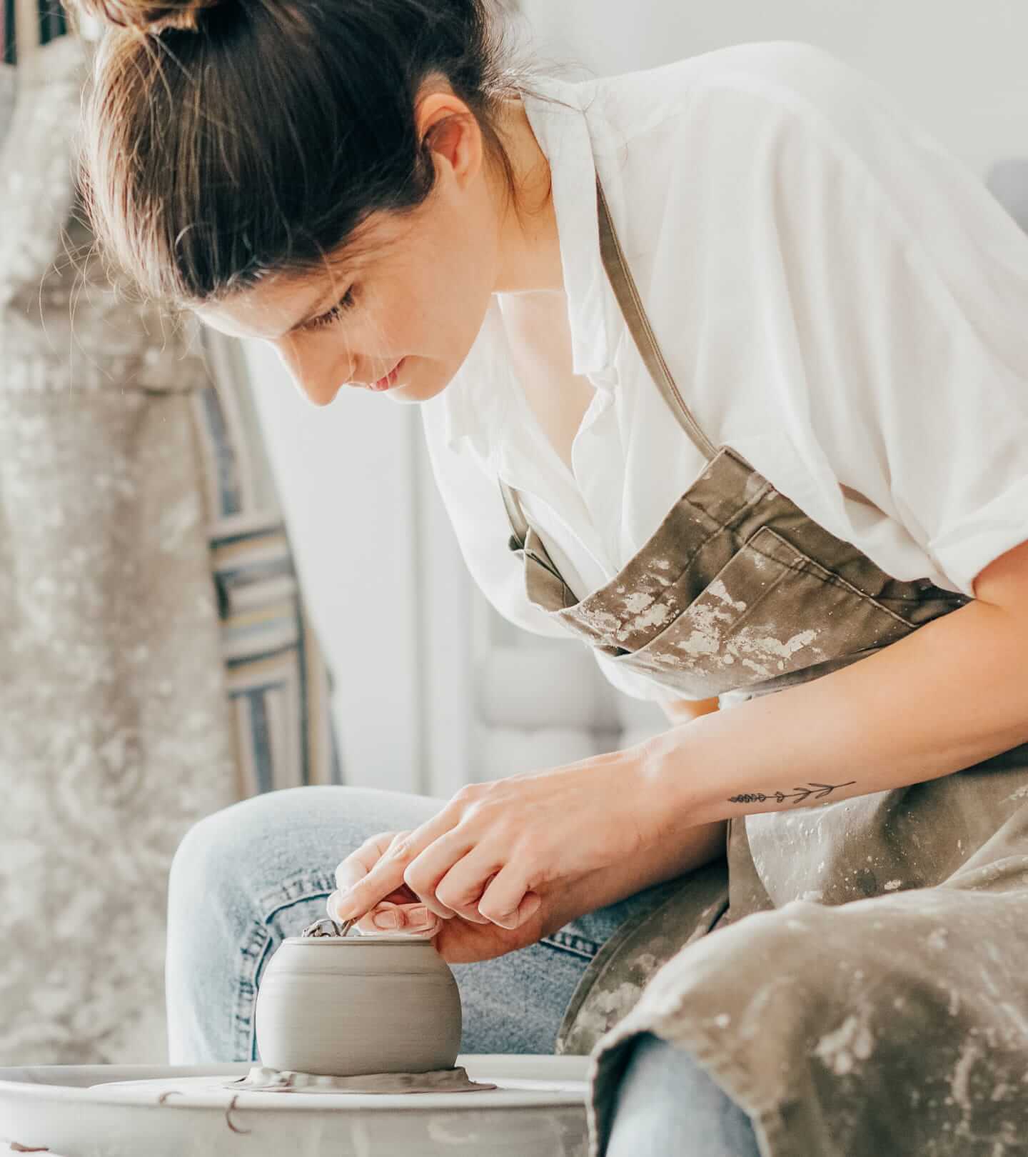
[[269, 347], [245, 347], [301, 583], [335, 678], [347, 782], [416, 790], [416, 411], [365, 390], [313, 406]]

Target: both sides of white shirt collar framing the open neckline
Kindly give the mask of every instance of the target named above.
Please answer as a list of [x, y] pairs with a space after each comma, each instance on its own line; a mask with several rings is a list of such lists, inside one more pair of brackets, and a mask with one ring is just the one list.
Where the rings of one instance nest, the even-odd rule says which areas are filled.
[[[597, 170], [585, 102], [594, 82], [569, 83], [533, 76], [539, 96], [524, 94], [528, 124], [549, 162], [553, 205], [571, 329], [572, 369], [600, 390], [613, 386], [612, 293], [600, 253]], [[552, 103], [550, 98], [562, 103]], [[495, 299], [468, 358], [445, 390], [423, 405], [439, 404], [446, 445], [467, 440], [494, 464], [518, 389], [504, 356], [502, 314]]]

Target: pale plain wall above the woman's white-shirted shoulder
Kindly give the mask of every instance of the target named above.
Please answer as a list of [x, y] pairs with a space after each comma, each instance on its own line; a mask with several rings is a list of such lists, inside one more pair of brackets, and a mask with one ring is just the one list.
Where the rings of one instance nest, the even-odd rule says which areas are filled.
[[606, 75], [746, 40], [818, 44], [874, 76], [978, 174], [1028, 153], [1025, 0], [523, 0], [540, 52]]

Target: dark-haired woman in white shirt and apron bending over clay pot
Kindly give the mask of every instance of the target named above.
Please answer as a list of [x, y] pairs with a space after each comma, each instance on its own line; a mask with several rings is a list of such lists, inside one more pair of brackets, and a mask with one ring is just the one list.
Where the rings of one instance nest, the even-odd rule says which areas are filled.
[[204, 820], [172, 1060], [253, 1055], [267, 958], [327, 899], [435, 935], [465, 1051], [597, 1045], [596, 1152], [1015, 1145], [1013, 222], [809, 45], [530, 87], [479, 0], [83, 7], [126, 25], [86, 109], [109, 251], [316, 405], [419, 404], [486, 595], [678, 723], [449, 802]]

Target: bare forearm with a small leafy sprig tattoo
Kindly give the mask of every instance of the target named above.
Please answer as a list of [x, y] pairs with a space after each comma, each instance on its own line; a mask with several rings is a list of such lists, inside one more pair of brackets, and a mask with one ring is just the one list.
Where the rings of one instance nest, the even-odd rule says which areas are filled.
[[[1028, 621], [981, 600], [811, 683], [636, 749], [665, 832], [948, 775], [1028, 740]], [[982, 656], [988, 656], [983, 663]]]

